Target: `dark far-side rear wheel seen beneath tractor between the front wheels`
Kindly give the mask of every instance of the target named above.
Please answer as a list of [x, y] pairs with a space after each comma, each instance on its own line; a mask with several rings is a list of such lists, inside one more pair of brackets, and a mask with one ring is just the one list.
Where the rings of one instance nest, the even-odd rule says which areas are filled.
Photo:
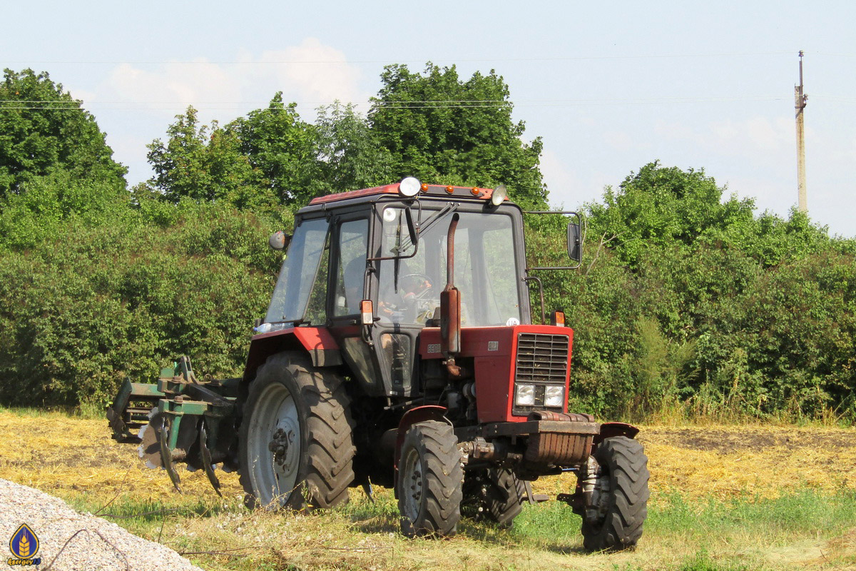
[[467, 473], [464, 481], [465, 514], [474, 520], [493, 521], [511, 527], [523, 510], [526, 485], [508, 468], [488, 468]]

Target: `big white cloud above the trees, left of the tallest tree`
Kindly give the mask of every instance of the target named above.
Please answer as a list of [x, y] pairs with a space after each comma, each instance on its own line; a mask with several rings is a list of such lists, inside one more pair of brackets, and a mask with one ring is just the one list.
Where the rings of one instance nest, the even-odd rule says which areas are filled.
[[128, 165], [134, 184], [151, 175], [146, 144], [163, 138], [172, 117], [188, 105], [199, 110], [202, 123], [226, 123], [266, 107], [282, 91], [283, 100], [297, 102], [300, 116], [312, 122], [319, 104], [336, 99], [363, 103], [366, 110], [369, 93], [361, 91], [360, 80], [359, 66], [348, 63], [344, 52], [308, 38], [280, 51], [238, 49], [229, 62], [121, 63], [94, 90], [75, 89], [74, 97], [97, 112], [115, 158]]

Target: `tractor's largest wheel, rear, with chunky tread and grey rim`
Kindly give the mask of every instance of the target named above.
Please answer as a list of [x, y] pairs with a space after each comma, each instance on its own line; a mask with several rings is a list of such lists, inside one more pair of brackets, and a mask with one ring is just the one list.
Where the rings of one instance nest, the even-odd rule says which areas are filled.
[[238, 433], [247, 505], [316, 509], [347, 501], [355, 452], [348, 405], [342, 378], [304, 354], [276, 354], [259, 367]]

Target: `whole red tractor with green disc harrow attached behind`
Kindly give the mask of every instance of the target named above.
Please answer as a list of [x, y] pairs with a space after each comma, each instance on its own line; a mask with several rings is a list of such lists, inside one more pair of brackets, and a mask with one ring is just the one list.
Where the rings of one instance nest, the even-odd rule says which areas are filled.
[[[556, 212], [530, 212], [532, 215]], [[126, 382], [108, 416], [149, 466], [238, 470], [251, 503], [333, 508], [348, 488], [395, 489], [407, 536], [455, 534], [461, 513], [509, 526], [541, 476], [589, 550], [632, 547], [648, 499], [638, 429], [568, 413], [574, 330], [532, 324], [523, 215], [505, 188], [398, 184], [312, 200], [288, 247], [243, 377]], [[541, 292], [541, 318], [544, 296]], [[142, 427], [140, 435], [131, 429]]]

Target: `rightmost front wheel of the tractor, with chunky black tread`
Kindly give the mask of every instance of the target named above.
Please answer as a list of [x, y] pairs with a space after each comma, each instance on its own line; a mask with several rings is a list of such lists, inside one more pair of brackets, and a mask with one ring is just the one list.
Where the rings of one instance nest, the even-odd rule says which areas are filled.
[[600, 468], [583, 514], [583, 546], [590, 551], [631, 549], [648, 515], [648, 457], [639, 441], [611, 437], [597, 444], [594, 459]]

